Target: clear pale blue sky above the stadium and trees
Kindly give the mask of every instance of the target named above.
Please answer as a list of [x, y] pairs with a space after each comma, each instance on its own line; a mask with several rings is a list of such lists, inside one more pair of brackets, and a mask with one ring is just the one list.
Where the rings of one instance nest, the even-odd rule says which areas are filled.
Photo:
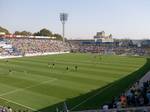
[[0, 26], [10, 32], [48, 28], [62, 33], [59, 13], [69, 14], [67, 38], [150, 38], [150, 0], [0, 0]]

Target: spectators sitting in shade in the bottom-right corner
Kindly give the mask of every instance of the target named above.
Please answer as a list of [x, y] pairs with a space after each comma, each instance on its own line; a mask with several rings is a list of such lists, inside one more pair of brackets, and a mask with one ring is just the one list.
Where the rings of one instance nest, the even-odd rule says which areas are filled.
[[127, 92], [119, 97], [113, 98], [110, 103], [104, 104], [102, 108], [106, 111], [113, 108], [121, 109], [141, 106], [150, 106], [150, 81], [143, 82], [143, 84], [140, 84], [139, 81], [137, 81]]

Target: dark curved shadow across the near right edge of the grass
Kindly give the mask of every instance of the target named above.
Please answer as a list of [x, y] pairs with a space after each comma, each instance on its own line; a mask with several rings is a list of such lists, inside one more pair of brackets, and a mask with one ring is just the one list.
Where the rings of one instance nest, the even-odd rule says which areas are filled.
[[[137, 71], [129, 74], [128, 76], [119, 79], [113, 83], [108, 84], [102, 88], [93, 90], [80, 96], [66, 99], [65, 102], [69, 110], [87, 110], [87, 109], [99, 109], [100, 106], [115, 96], [119, 96], [124, 90], [127, 90], [135, 81], [140, 79], [144, 74], [150, 70], [150, 59]], [[61, 94], [61, 93], [60, 93]], [[60, 102], [48, 107], [42, 108], [40, 112], [56, 112], [56, 108], [62, 110], [64, 108], [64, 102]]]

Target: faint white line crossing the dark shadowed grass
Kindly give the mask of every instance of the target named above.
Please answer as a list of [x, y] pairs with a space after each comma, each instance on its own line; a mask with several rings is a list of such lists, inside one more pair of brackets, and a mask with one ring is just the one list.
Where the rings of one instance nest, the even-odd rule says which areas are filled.
[[[113, 84], [112, 84], [112, 85], [113, 85]], [[75, 105], [75, 106], [72, 107], [70, 110], [73, 110], [73, 109], [79, 107], [80, 105], [84, 104], [84, 103], [87, 102], [88, 100], [90, 100], [90, 99], [92, 99], [93, 97], [97, 96], [97, 95], [100, 94], [102, 91], [104, 91], [104, 90], [107, 89], [108, 87], [111, 87], [112, 85], [107, 86], [107, 87], [105, 87], [104, 89], [98, 91], [96, 94], [94, 94], [93, 96], [90, 96], [90, 97], [88, 97], [87, 99], [83, 100], [81, 103], [79, 103], [78, 105]]]

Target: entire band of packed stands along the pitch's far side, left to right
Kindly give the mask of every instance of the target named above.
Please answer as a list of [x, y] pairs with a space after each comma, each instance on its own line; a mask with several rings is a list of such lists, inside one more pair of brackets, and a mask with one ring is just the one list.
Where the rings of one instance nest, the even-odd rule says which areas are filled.
[[102, 43], [94, 40], [52, 40], [48, 38], [1, 38], [0, 55], [25, 55], [46, 52], [81, 52], [116, 55], [149, 55], [147, 46], [138, 47], [131, 42]]

